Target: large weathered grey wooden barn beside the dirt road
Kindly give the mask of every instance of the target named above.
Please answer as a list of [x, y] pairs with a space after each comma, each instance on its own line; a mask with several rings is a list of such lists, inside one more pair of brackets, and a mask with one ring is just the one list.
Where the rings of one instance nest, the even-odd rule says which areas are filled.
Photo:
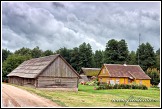
[[59, 54], [24, 61], [8, 75], [9, 83], [36, 88], [78, 88], [79, 74]]

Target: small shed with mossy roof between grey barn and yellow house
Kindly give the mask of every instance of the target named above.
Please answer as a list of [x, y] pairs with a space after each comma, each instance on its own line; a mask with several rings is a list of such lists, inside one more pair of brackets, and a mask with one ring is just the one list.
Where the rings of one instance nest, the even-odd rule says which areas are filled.
[[80, 76], [82, 77], [82, 79], [80, 79], [80, 81], [90, 81], [93, 78], [96, 78], [99, 71], [101, 69], [100, 68], [81, 68], [80, 70]]

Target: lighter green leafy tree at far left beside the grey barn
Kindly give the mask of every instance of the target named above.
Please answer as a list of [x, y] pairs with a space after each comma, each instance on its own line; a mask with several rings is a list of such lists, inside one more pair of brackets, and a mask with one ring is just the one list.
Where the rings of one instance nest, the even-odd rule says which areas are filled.
[[7, 79], [7, 74], [18, 67], [25, 60], [30, 59], [29, 56], [22, 56], [18, 54], [9, 55], [2, 64], [2, 79]]

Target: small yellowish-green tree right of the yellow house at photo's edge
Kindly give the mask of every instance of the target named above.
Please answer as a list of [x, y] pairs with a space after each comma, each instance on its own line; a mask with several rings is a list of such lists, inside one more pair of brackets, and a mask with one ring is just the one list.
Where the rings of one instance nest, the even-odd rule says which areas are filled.
[[157, 68], [148, 68], [146, 74], [151, 78], [152, 85], [158, 85], [160, 82], [160, 72]]

